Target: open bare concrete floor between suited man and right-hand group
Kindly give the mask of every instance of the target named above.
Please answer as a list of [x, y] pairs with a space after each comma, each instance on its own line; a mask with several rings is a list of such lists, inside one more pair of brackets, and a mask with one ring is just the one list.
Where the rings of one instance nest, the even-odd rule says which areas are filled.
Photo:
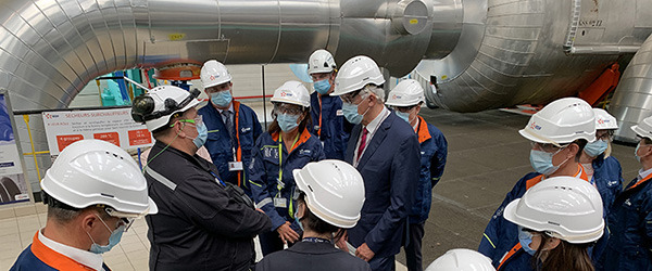
[[[423, 243], [424, 267], [452, 248], [477, 249], [493, 211], [513, 185], [532, 171], [529, 141], [518, 134], [529, 116], [501, 111], [453, 113], [422, 108], [449, 143], [448, 163], [432, 191], [432, 207]], [[640, 165], [635, 146], [612, 144], [613, 156], [631, 180]], [[403, 251], [397, 260], [405, 263]]]

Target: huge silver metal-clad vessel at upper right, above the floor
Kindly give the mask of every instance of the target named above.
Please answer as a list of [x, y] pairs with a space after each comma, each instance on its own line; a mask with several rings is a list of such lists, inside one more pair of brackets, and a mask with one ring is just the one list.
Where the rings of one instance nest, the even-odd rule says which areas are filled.
[[651, 11], [650, 0], [467, 0], [457, 47], [416, 74], [437, 76], [427, 98], [451, 111], [548, 103], [634, 54], [652, 33]]

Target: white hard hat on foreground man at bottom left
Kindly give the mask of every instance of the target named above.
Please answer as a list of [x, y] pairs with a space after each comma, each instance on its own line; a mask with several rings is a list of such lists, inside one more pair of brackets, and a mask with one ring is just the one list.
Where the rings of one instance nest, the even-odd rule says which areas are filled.
[[88, 139], [66, 146], [40, 185], [50, 197], [79, 209], [106, 205], [133, 217], [159, 210], [136, 162], [106, 141]]

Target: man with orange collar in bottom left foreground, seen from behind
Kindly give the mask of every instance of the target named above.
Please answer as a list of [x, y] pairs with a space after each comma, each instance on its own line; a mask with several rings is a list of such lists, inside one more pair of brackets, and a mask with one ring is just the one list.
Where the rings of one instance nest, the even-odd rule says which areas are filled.
[[120, 243], [134, 219], [159, 210], [138, 164], [101, 140], [66, 146], [40, 186], [48, 206], [46, 227], [34, 234], [11, 271], [110, 270], [102, 254]]

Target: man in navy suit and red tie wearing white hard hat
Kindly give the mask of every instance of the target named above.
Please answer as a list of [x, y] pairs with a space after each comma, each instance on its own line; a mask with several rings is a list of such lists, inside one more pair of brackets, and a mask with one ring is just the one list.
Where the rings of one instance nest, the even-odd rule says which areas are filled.
[[333, 93], [342, 99], [344, 117], [355, 124], [344, 160], [362, 175], [366, 196], [348, 241], [372, 270], [396, 269], [421, 168], [416, 133], [385, 107], [384, 82], [378, 65], [359, 55], [342, 65]]

